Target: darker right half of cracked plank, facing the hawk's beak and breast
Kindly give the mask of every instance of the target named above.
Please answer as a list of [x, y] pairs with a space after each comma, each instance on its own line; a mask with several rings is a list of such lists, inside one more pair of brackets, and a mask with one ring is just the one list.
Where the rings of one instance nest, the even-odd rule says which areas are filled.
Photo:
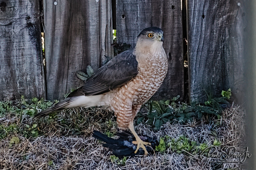
[[169, 69], [154, 99], [170, 99], [184, 96], [184, 64], [182, 12], [180, 0], [153, 0], [152, 26], [164, 31], [164, 50], [168, 57]]

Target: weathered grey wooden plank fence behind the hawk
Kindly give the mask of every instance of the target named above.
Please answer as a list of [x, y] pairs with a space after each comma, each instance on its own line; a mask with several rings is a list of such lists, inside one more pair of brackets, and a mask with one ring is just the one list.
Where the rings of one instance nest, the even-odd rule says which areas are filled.
[[[181, 100], [189, 96], [203, 101], [206, 92], [218, 96], [228, 88], [241, 98], [243, 3], [44, 0], [44, 68], [40, 3], [0, 0], [0, 100], [18, 99], [21, 94], [63, 99], [71, 88], [84, 83], [76, 78], [76, 71], [85, 71], [87, 65], [97, 70], [106, 57], [113, 57], [113, 28], [118, 43], [134, 47], [140, 31], [149, 26], [163, 29], [169, 61], [167, 76], [154, 99], [180, 95]], [[187, 51], [188, 69], [184, 67]]]

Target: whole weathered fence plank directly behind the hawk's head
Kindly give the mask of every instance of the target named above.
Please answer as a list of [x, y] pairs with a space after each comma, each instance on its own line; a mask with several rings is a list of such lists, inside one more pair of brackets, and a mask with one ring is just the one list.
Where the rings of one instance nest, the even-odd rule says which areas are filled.
[[184, 95], [181, 1], [116, 0], [117, 42], [135, 46], [144, 28], [157, 26], [164, 31], [164, 49], [169, 70], [163, 85], [153, 99]]

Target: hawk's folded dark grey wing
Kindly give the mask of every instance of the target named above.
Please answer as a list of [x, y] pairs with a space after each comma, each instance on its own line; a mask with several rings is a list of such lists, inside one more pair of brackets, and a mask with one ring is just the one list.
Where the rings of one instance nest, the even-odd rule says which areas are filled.
[[121, 87], [138, 74], [138, 62], [131, 50], [116, 55], [86, 79], [83, 87], [71, 92], [68, 97], [102, 94]]

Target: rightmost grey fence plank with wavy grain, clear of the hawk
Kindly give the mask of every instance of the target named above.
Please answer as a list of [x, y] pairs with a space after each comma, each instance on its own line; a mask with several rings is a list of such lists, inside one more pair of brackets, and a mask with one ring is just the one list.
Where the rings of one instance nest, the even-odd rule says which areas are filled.
[[244, 96], [244, 1], [187, 0], [190, 101], [231, 88]]

